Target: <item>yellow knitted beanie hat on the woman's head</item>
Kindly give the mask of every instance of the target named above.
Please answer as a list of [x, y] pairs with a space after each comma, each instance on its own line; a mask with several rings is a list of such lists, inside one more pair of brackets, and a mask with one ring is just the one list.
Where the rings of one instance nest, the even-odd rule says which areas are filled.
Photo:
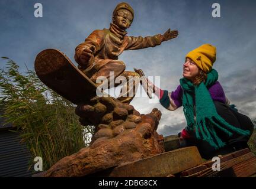
[[190, 51], [186, 58], [193, 60], [201, 70], [208, 73], [212, 70], [213, 63], [216, 60], [216, 47], [211, 44], [203, 44]]

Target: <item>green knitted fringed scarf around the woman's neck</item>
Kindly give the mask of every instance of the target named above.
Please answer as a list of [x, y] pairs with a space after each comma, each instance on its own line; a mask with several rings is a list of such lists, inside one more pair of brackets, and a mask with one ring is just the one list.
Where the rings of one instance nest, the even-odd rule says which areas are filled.
[[[218, 79], [218, 73], [212, 69], [207, 74], [206, 82], [201, 82], [199, 86], [195, 86], [190, 80], [180, 79], [181, 87], [183, 88], [183, 111], [187, 120], [187, 131], [196, 132], [197, 139], [203, 139], [209, 142], [215, 149], [225, 146], [225, 142], [217, 136], [215, 128], [232, 136], [232, 132], [241, 135], [249, 135], [249, 131], [236, 128], [226, 122], [220, 115], [217, 114], [215, 105], [207, 87], [212, 86]], [[194, 121], [194, 103], [193, 94], [196, 101], [196, 122]]]

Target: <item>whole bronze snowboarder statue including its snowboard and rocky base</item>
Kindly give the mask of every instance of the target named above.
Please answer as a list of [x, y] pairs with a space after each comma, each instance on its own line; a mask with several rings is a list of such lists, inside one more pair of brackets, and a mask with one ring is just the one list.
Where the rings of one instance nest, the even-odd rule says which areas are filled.
[[135, 95], [136, 85], [129, 87], [127, 84], [123, 96], [118, 99], [95, 94], [99, 86], [95, 83], [97, 77], [110, 79], [110, 71], [114, 71], [114, 79], [143, 76], [141, 70], [135, 70], [137, 73], [124, 71], [125, 64], [118, 60], [124, 50], [155, 47], [178, 35], [177, 30], [167, 30], [163, 35], [152, 37], [127, 36], [126, 29], [132, 24], [133, 16], [130, 5], [118, 4], [110, 29], [93, 31], [76, 47], [78, 67], [60, 50], [46, 49], [37, 54], [35, 70], [39, 79], [77, 105], [75, 113], [82, 125], [94, 126], [88, 147], [60, 159], [40, 176], [83, 177], [165, 151], [164, 137], [156, 131], [161, 112], [153, 109], [151, 113], [141, 115], [129, 105], [133, 96], [126, 97], [126, 94], [131, 90]]

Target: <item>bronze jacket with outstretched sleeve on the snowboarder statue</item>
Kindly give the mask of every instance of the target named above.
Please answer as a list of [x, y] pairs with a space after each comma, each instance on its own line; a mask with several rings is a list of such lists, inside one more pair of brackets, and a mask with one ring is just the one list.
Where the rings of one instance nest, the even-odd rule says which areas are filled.
[[[137, 50], [147, 47], [155, 47], [160, 45], [163, 40], [163, 35], [156, 34], [148, 37], [133, 37], [127, 36], [125, 30], [121, 30], [117, 25], [110, 24], [110, 29], [95, 30], [86, 39], [84, 43], [81, 43], [75, 49], [75, 60], [79, 65], [81, 64], [80, 56], [85, 48], [89, 48], [94, 54], [94, 64], [88, 64], [87, 67], [82, 68], [78, 66], [79, 69], [84, 71], [85, 69], [91, 69], [91, 72], [97, 72], [105, 64], [110, 61], [113, 63], [121, 62], [118, 56], [123, 53], [124, 50]], [[124, 65], [124, 63], [122, 63]], [[92, 69], [92, 67], [94, 67]], [[114, 71], [114, 70], [113, 70]], [[92, 76], [92, 74], [90, 75]], [[88, 74], [88, 71], [87, 71]]]

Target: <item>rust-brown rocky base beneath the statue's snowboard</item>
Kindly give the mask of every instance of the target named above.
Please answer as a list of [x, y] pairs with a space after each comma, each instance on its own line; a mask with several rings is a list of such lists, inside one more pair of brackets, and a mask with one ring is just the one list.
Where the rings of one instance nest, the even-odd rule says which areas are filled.
[[82, 125], [94, 125], [91, 144], [60, 159], [43, 177], [83, 177], [164, 152], [164, 137], [156, 132], [161, 112], [140, 115], [132, 105], [113, 97], [94, 97], [78, 106]]

